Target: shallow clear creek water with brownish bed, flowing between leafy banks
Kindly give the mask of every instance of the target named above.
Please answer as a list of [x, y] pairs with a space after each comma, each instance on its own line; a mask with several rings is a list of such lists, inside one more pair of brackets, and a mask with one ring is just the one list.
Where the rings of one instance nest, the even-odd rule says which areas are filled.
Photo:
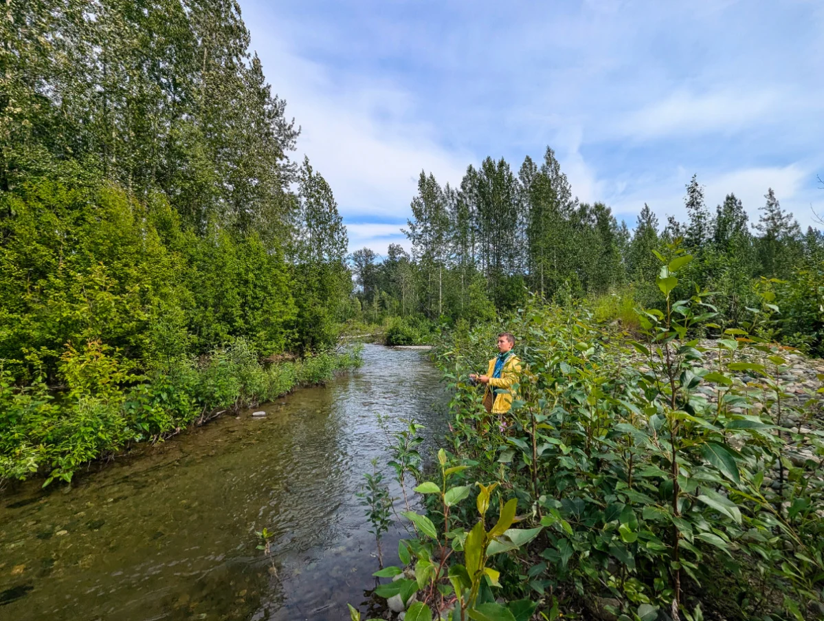
[[[354, 496], [390, 479], [386, 435], [414, 417], [432, 453], [445, 388], [424, 352], [367, 345], [364, 365], [162, 445], [66, 487], [0, 496], [0, 619], [349, 619], [375, 586], [375, 541]], [[400, 496], [399, 487], [391, 487]], [[396, 510], [402, 510], [402, 499]], [[271, 561], [255, 531], [274, 531]], [[395, 562], [398, 529], [385, 536]]]

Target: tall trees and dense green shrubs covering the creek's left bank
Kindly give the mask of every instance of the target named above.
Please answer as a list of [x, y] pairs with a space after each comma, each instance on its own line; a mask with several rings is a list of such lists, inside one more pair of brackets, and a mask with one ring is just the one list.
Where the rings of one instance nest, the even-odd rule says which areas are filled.
[[0, 480], [330, 377], [346, 231], [238, 4], [12, 0], [0, 41]]

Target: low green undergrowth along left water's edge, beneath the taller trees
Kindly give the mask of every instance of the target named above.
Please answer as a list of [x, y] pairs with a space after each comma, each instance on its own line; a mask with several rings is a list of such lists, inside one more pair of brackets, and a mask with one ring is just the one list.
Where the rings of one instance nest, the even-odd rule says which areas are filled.
[[100, 341], [69, 347], [61, 360], [66, 385], [44, 378], [25, 388], [0, 369], [0, 488], [35, 473], [71, 482], [77, 468], [140, 441], [157, 442], [225, 411], [252, 407], [298, 386], [324, 383], [361, 364], [361, 347], [261, 365], [248, 342], [192, 359], [167, 358], [138, 374]]

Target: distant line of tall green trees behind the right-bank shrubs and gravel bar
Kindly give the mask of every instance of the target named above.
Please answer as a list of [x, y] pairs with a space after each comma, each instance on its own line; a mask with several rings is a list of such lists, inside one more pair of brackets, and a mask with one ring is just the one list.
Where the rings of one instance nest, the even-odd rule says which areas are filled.
[[695, 261], [677, 294], [709, 289], [722, 321], [732, 324], [757, 306], [757, 287], [783, 289], [785, 339], [820, 349], [822, 233], [802, 233], [772, 189], [754, 226], [733, 194], [712, 213], [695, 176], [685, 202], [686, 223], [670, 217], [661, 228], [644, 205], [630, 232], [607, 205], [574, 197], [551, 148], [540, 165], [527, 157], [517, 175], [505, 160], [486, 158], [467, 168], [459, 188], [421, 172], [405, 228], [412, 254], [391, 245], [378, 262], [368, 248], [355, 252], [358, 298], [370, 318], [423, 313], [452, 322], [491, 318], [525, 303], [528, 292], [563, 302], [629, 289], [637, 303], [654, 304], [654, 252], [680, 238]]

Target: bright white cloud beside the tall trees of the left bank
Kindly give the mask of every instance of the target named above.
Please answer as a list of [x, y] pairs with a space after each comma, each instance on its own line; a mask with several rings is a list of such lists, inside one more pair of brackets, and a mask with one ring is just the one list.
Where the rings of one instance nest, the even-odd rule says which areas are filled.
[[[254, 23], [250, 30], [254, 37]], [[306, 153], [332, 187], [344, 219], [404, 218], [422, 169], [441, 183], [460, 181], [471, 156], [442, 148], [431, 125], [410, 118], [409, 93], [377, 79], [341, 85], [321, 64], [260, 40], [267, 78], [302, 128], [296, 159]]]

